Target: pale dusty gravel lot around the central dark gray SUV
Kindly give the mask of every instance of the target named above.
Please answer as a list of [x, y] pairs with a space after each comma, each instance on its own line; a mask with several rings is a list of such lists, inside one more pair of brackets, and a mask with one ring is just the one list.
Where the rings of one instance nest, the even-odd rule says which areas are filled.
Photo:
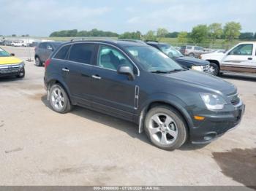
[[[4, 48], [29, 57], [27, 48]], [[256, 77], [224, 77], [246, 104], [238, 128], [211, 144], [168, 152], [130, 122], [80, 107], [53, 112], [43, 75], [26, 62], [25, 79], [0, 79], [1, 185], [256, 186]]]

